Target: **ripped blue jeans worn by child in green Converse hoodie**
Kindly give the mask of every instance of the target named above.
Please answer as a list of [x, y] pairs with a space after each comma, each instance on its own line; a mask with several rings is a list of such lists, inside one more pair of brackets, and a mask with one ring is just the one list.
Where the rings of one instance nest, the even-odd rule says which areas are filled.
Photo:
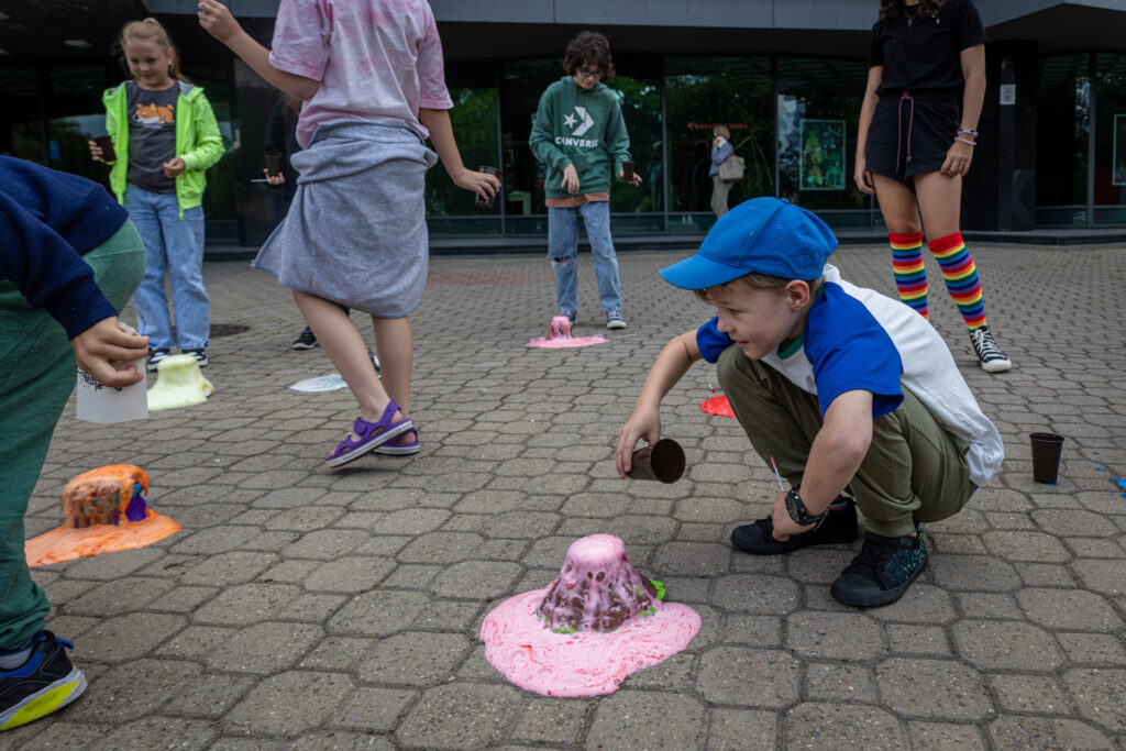
[[587, 226], [587, 239], [595, 254], [598, 301], [604, 311], [622, 310], [622, 283], [618, 257], [610, 239], [610, 204], [586, 203], [577, 208], [547, 207], [547, 258], [555, 269], [555, 302], [561, 315], [579, 312], [579, 215]]

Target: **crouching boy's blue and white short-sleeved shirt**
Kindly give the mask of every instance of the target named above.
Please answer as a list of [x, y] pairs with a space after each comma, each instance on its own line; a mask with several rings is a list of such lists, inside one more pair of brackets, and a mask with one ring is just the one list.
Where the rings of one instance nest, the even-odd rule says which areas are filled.
[[[696, 332], [696, 345], [715, 363], [733, 342], [713, 318]], [[802, 336], [787, 349], [761, 360], [821, 402], [821, 413], [837, 396], [864, 390], [873, 394], [873, 419], [914, 394], [942, 428], [969, 444], [969, 479], [981, 486], [1004, 458], [1001, 435], [977, 406], [946, 342], [913, 309], [873, 289], [844, 281], [824, 267]]]

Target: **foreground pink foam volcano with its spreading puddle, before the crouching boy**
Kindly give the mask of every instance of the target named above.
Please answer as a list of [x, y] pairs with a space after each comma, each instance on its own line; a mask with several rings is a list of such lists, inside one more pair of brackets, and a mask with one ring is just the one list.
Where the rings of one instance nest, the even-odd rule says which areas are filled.
[[619, 538], [583, 537], [568, 548], [558, 579], [504, 600], [485, 617], [485, 659], [536, 694], [613, 694], [699, 632], [696, 611], [662, 602], [663, 593], [660, 582], [634, 570]]

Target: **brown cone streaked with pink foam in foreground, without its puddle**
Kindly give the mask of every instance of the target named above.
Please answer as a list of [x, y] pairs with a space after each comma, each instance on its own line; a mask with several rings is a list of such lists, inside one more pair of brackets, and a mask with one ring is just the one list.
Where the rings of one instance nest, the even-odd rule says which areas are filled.
[[611, 632], [658, 604], [656, 588], [629, 563], [622, 539], [589, 535], [568, 548], [536, 613], [555, 632]]

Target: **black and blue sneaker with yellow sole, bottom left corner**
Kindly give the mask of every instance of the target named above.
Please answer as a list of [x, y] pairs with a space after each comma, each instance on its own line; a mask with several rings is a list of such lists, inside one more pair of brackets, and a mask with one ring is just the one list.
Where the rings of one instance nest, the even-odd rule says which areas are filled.
[[66, 656], [73, 644], [50, 631], [34, 640], [27, 662], [0, 670], [0, 731], [50, 715], [86, 690], [86, 676]]

